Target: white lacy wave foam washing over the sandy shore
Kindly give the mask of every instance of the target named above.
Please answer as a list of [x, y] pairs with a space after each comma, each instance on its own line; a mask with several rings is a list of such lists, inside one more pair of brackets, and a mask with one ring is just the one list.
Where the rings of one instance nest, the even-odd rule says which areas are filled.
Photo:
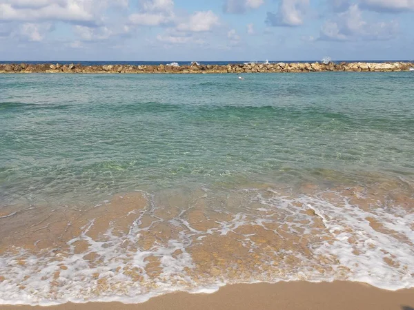
[[[210, 195], [209, 191], [204, 192]], [[407, 213], [399, 207], [373, 208], [367, 211], [357, 205], [349, 204], [345, 198], [340, 205], [334, 205], [318, 197], [288, 198], [272, 191], [267, 191], [265, 195], [258, 189], [246, 189], [242, 192], [246, 195], [246, 201], [260, 203], [263, 206], [254, 208], [259, 212], [248, 214], [248, 209], [240, 210], [233, 215], [232, 220], [217, 221], [216, 224], [219, 227], [208, 231], [194, 229], [184, 218], [174, 218], [169, 223], [180, 227], [182, 231], [164, 244], [156, 242], [151, 249], [143, 250], [134, 247], [139, 244], [144, 231], [150, 229], [150, 227], [139, 227], [143, 213], [126, 236], [119, 238], [108, 230], [105, 242], [95, 241], [88, 237], [87, 232], [94, 225], [94, 221], [91, 221], [83, 227], [81, 236], [68, 242], [69, 256], [55, 254], [53, 250], [44, 253], [43, 256], [34, 256], [25, 251], [0, 256], [0, 274], [6, 278], [0, 282], [0, 304], [48, 306], [65, 302], [88, 301], [137, 303], [171, 291], [213, 293], [219, 287], [233, 283], [233, 280], [219, 276], [210, 278], [209, 282], [197, 282], [192, 278], [186, 269], [194, 268], [193, 259], [187, 251], [194, 242], [193, 240], [202, 242], [206, 236], [212, 234], [225, 236], [230, 232], [235, 232], [242, 225], [259, 225], [270, 230], [266, 228], [266, 224], [274, 223], [272, 218], [274, 214], [280, 215], [282, 220], [279, 224], [286, 225], [292, 234], [297, 234], [299, 228], [304, 229], [306, 234], [310, 234], [312, 231], [308, 228], [309, 225], [301, 226], [299, 222], [308, 220], [314, 223], [315, 216], [317, 216], [325, 227], [318, 234], [331, 236], [333, 242], [319, 242], [312, 245], [310, 250], [313, 256], [311, 257], [304, 256], [299, 251], [280, 249], [277, 253], [275, 252], [275, 256], [294, 255], [299, 258], [300, 262], [295, 267], [281, 262], [280, 268], [284, 270], [284, 274], [273, 275], [258, 269], [245, 282], [348, 280], [366, 282], [388, 290], [414, 287], [412, 276], [414, 274], [414, 232], [411, 228], [414, 222], [413, 213]], [[146, 197], [150, 199], [150, 208], [146, 212], [152, 212], [156, 208], [152, 200], [153, 196], [148, 194]], [[315, 216], [304, 213], [304, 209], [312, 209]], [[297, 221], [293, 223], [284, 220], [288, 217], [295, 218]], [[386, 234], [373, 229], [366, 220], [368, 217], [374, 218], [386, 229], [394, 231], [394, 234]], [[282, 238], [276, 230], [274, 233], [275, 238]], [[257, 245], [250, 239], [251, 236], [254, 234], [246, 234], [242, 245], [253, 251]], [[75, 254], [75, 242], [79, 240], [87, 241], [90, 247], [82, 254]], [[178, 255], [177, 250], [180, 250]], [[90, 265], [90, 262], [83, 258], [91, 253], [101, 256], [102, 262], [99, 265]], [[148, 265], [146, 258], [150, 256], [159, 258], [161, 268], [159, 278], [152, 278], [145, 271]], [[323, 256], [327, 262], [318, 260], [318, 256]], [[25, 259], [24, 266], [19, 265], [18, 260], [21, 258]], [[384, 258], [392, 259], [395, 264], [388, 265]], [[272, 265], [273, 262], [268, 259], [264, 260], [263, 264]], [[61, 270], [60, 265], [65, 265], [68, 269]], [[326, 271], [319, 273], [315, 266]], [[119, 267], [122, 270], [139, 269], [144, 282], [137, 282], [122, 272], [116, 272]], [[54, 291], [52, 278], [57, 270], [60, 271], [59, 278], [56, 279], [59, 286], [55, 289], [55, 293], [52, 293]], [[98, 279], [94, 276], [95, 273], [99, 273]], [[30, 278], [27, 279], [26, 276]], [[112, 291], [102, 291], [99, 295], [95, 290], [99, 287], [98, 280], [102, 278], [107, 279]], [[21, 285], [24, 289], [20, 288]]]

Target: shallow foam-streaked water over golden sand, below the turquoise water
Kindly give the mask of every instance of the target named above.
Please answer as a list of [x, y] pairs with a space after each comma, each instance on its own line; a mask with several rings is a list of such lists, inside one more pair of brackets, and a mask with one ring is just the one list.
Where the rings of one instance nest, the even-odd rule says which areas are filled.
[[0, 304], [144, 302], [170, 291], [304, 280], [414, 287], [414, 198], [401, 182], [293, 191], [117, 194], [0, 209]]

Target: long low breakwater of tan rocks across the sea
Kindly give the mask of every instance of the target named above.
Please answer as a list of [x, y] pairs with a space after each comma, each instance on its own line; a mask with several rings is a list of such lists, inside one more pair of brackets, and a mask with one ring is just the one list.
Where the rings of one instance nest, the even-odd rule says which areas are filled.
[[0, 73], [256, 73], [256, 72], [397, 72], [408, 71], [414, 63], [248, 63], [231, 65], [61, 65], [59, 63], [0, 64]]

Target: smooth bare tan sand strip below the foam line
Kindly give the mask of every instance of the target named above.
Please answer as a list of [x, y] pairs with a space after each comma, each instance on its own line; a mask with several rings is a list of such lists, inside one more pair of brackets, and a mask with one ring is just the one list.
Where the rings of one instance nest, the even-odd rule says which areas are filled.
[[0, 310], [414, 310], [414, 289], [383, 291], [351, 282], [281, 282], [275, 285], [229, 285], [214, 294], [171, 293], [144, 304], [89, 303], [59, 307], [10, 307]]

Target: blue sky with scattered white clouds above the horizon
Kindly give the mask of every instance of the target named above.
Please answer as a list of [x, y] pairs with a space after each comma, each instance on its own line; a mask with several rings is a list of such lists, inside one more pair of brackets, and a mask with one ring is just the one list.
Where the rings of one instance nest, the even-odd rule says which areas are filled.
[[0, 61], [414, 59], [414, 0], [0, 0]]

